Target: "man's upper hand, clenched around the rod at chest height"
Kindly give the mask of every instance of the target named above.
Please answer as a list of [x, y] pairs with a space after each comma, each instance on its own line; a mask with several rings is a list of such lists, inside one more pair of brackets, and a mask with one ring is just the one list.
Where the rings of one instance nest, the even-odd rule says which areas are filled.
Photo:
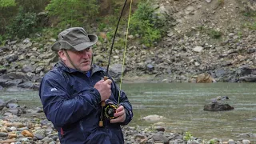
[[94, 88], [98, 90], [99, 94], [101, 94], [101, 102], [110, 98], [111, 83], [112, 81], [110, 79], [107, 79], [106, 81], [104, 80], [98, 81], [95, 84]]

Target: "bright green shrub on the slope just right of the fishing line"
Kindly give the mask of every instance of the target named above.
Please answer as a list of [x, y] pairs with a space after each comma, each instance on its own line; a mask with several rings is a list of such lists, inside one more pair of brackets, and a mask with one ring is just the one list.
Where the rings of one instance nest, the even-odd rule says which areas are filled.
[[130, 32], [139, 34], [141, 42], [146, 46], [153, 46], [158, 42], [166, 31], [166, 22], [154, 13], [149, 2], [140, 2], [138, 10], [130, 19]]

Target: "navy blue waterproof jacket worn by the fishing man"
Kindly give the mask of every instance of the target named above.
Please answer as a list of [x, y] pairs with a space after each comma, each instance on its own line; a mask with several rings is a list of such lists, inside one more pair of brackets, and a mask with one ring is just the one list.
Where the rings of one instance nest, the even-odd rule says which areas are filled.
[[[53, 70], [46, 73], [39, 90], [46, 118], [58, 130], [62, 144], [124, 143], [120, 125], [128, 124], [133, 117], [126, 94], [121, 91], [119, 103], [126, 110], [125, 122], [110, 124], [105, 118], [104, 126], [99, 127], [101, 97], [94, 85], [106, 76], [106, 70], [92, 66], [90, 75], [87, 75], [68, 68], [62, 62], [58, 62]], [[114, 82], [111, 85], [109, 100], [118, 103], [118, 86]]]

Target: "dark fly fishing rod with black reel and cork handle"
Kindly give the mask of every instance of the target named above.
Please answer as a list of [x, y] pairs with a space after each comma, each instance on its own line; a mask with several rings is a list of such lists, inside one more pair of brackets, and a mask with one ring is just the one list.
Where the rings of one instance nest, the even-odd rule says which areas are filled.
[[[107, 64], [107, 67], [106, 67], [106, 74], [108, 74], [108, 72], [109, 72], [110, 60], [111, 60], [111, 55], [112, 55], [112, 51], [113, 51], [113, 47], [114, 47], [114, 39], [115, 39], [115, 36], [118, 32], [118, 26], [119, 26], [120, 20], [122, 18], [123, 11], [126, 7], [126, 2], [127, 2], [127, 0], [124, 2], [123, 6], [122, 6], [122, 11], [121, 11], [121, 14], [118, 18], [118, 24], [117, 24], [116, 29], [114, 31], [114, 37], [112, 39], [112, 44], [111, 44], [111, 47], [110, 47], [110, 56], [109, 56], [108, 64]], [[104, 76], [103, 79], [104, 79], [104, 81], [106, 81], [108, 79], [108, 77]], [[120, 96], [120, 92], [119, 92], [119, 96]], [[119, 98], [118, 98], [118, 103], [119, 103]], [[101, 106], [102, 106], [102, 111], [101, 111], [100, 121], [98, 123], [98, 125], [100, 127], [103, 126], [103, 110], [104, 110], [104, 107], [106, 106], [106, 102], [101, 102]], [[116, 106], [114, 104], [110, 104], [110, 105], [106, 106], [105, 113], [104, 113], [106, 118], [114, 119], [114, 113], [115, 113], [117, 108], [118, 108], [118, 106]]]

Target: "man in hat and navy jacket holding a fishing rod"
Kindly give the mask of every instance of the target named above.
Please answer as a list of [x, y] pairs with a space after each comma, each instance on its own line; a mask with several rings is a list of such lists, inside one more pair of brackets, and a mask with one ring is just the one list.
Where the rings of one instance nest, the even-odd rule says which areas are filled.
[[[61, 143], [124, 143], [120, 126], [131, 121], [132, 106], [111, 78], [102, 80], [106, 70], [92, 64], [92, 46], [97, 41], [96, 35], [73, 27], [58, 34], [58, 42], [51, 48], [61, 61], [42, 78], [39, 96]], [[118, 97], [114, 119], [103, 118], [103, 126], [99, 126], [101, 102], [118, 104]]]

